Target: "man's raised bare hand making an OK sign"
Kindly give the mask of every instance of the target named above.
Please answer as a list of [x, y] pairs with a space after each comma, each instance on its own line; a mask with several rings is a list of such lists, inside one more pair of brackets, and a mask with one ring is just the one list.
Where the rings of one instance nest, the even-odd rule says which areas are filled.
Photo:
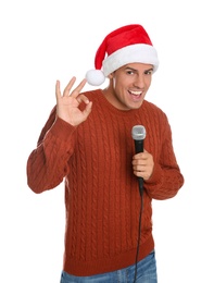
[[[59, 118], [73, 126], [77, 126], [84, 122], [90, 114], [92, 108], [92, 102], [89, 101], [85, 95], [80, 94], [87, 82], [86, 78], [83, 79], [80, 84], [71, 91], [75, 81], [76, 77], [73, 77], [70, 81], [63, 91], [63, 95], [61, 95], [60, 82], [56, 81], [55, 84], [56, 114]], [[79, 109], [79, 104], [81, 102], [86, 104], [83, 111]]]

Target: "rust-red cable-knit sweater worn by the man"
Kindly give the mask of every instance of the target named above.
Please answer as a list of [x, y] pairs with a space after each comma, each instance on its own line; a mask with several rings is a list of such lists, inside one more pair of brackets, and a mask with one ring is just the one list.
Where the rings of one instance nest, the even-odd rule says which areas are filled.
[[55, 119], [55, 108], [27, 161], [28, 186], [41, 193], [65, 184], [66, 230], [63, 269], [74, 275], [114, 271], [135, 263], [140, 195], [133, 173], [134, 125], [142, 124], [144, 149], [154, 159], [144, 182], [139, 259], [153, 248], [152, 198], [174, 197], [184, 184], [166, 115], [147, 100], [121, 111], [100, 89], [86, 91], [92, 111], [73, 127]]

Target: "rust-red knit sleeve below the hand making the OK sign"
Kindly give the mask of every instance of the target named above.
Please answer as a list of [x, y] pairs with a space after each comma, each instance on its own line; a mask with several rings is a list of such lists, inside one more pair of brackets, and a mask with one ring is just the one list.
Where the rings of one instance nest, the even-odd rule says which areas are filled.
[[74, 145], [75, 127], [56, 118], [54, 108], [27, 160], [27, 184], [33, 192], [42, 193], [63, 181]]

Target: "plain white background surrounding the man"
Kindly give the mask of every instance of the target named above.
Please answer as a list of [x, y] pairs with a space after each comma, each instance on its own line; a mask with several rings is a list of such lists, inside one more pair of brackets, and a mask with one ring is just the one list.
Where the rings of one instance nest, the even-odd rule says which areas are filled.
[[[0, 2], [0, 282], [59, 283], [63, 184], [34, 194], [26, 161], [64, 87], [93, 67], [106, 34], [140, 23], [160, 69], [147, 99], [168, 115], [186, 183], [153, 201], [159, 283], [214, 282], [213, 5], [197, 0]], [[89, 86], [86, 86], [86, 90]]]

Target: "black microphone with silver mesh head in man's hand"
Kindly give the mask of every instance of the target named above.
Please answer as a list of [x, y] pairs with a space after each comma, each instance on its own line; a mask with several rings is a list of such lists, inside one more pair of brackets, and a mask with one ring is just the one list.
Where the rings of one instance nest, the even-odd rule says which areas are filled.
[[[142, 125], [136, 125], [131, 130], [131, 136], [135, 142], [135, 150], [136, 153], [143, 152], [143, 139], [146, 137], [146, 128]], [[139, 181], [139, 192], [140, 196], [142, 196], [143, 190], [143, 179], [138, 177]]]

